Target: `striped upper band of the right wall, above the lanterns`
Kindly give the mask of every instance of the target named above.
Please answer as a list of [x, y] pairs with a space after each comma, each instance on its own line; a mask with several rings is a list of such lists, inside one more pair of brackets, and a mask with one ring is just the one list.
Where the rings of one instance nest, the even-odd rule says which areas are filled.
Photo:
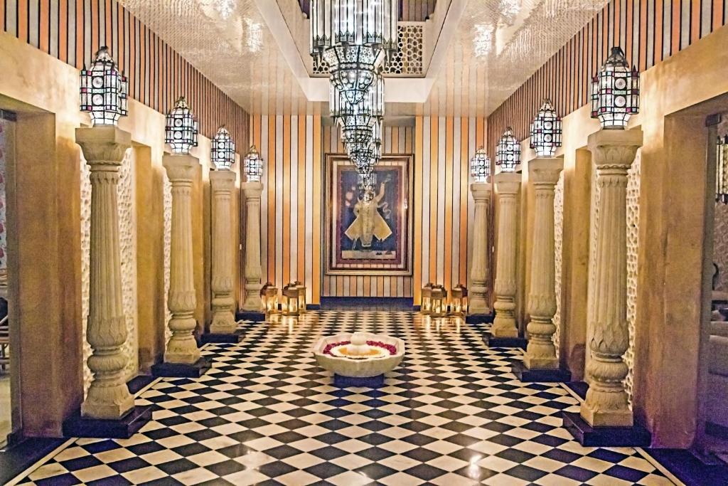
[[590, 79], [620, 44], [640, 71], [726, 23], [728, 0], [612, 0], [488, 117], [488, 152], [510, 125], [526, 138], [541, 98], [561, 116], [589, 103]]

